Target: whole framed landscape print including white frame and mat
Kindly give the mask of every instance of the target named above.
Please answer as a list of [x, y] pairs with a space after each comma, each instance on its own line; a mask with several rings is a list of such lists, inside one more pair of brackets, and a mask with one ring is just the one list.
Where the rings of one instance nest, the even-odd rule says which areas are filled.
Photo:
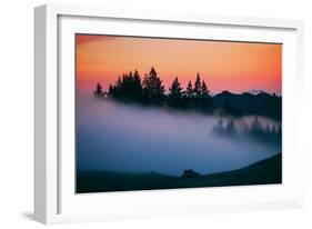
[[302, 206], [301, 21], [34, 16], [38, 221]]

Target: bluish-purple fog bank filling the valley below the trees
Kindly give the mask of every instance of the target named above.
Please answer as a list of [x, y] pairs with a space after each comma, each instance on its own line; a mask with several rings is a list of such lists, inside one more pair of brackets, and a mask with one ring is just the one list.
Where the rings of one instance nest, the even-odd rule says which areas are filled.
[[[238, 129], [254, 117], [233, 119]], [[221, 137], [213, 132], [220, 117], [164, 108], [125, 104], [77, 93], [77, 168], [181, 176], [245, 167], [281, 152], [265, 141]], [[259, 117], [263, 127], [280, 125]], [[224, 119], [227, 121], [227, 119]]]

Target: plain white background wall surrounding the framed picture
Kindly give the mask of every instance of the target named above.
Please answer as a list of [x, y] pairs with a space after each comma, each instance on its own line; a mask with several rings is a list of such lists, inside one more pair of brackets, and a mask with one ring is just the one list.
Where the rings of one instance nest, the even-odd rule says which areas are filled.
[[[47, 1], [50, 2], [50, 1]], [[64, 0], [61, 3], [302, 19], [305, 23], [305, 202], [301, 210], [135, 219], [66, 228], [312, 228], [312, 6], [306, 0]], [[40, 0], [7, 0], [0, 7], [0, 228], [41, 228], [32, 218], [33, 191], [33, 7]], [[311, 119], [311, 118], [310, 118]], [[294, 152], [295, 153], [295, 152]], [[52, 226], [56, 227], [56, 226]]]

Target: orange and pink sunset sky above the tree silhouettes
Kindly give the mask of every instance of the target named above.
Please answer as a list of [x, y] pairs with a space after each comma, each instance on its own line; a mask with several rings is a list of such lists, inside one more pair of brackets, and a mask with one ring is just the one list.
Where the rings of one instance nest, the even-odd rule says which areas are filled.
[[134, 69], [143, 78], [153, 66], [167, 90], [175, 76], [185, 88], [200, 72], [214, 93], [281, 93], [282, 44], [77, 34], [76, 50], [80, 90], [107, 89]]

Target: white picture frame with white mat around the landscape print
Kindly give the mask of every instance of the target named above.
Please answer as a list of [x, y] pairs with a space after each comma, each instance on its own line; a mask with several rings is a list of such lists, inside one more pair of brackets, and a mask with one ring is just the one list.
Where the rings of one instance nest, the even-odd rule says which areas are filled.
[[[130, 22], [133, 24], [131, 31], [128, 30]], [[145, 29], [147, 26], [153, 26], [155, 30], [149, 31]], [[170, 27], [181, 27], [181, 29], [171, 30]], [[72, 186], [74, 183], [72, 157], [74, 126], [71, 120], [73, 120], [74, 108], [74, 78], [72, 78], [74, 72], [73, 67], [69, 67], [74, 54], [72, 36], [74, 32], [84, 31], [189, 37], [188, 33], [182, 32], [183, 27], [194, 31], [194, 38], [211, 36], [210, 39], [217, 40], [225, 38], [285, 43], [283, 183], [77, 196]], [[220, 28], [225, 29], [223, 31]], [[296, 121], [300, 119], [300, 112], [291, 109], [293, 106], [298, 107], [295, 99], [301, 97], [303, 83], [302, 21], [44, 4], [34, 9], [34, 29], [36, 220], [43, 223], [58, 223], [303, 206], [303, 152], [296, 140]], [[207, 33], [209, 30], [215, 30], [215, 33]], [[70, 92], [64, 93], [63, 90]]]

